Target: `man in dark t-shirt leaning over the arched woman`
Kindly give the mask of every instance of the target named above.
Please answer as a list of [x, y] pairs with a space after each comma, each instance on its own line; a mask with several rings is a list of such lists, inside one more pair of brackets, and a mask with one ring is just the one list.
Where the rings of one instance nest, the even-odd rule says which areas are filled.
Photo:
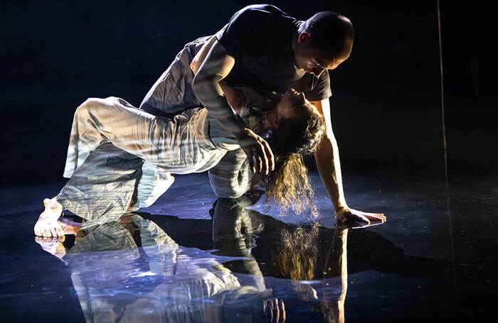
[[[337, 13], [324, 11], [300, 21], [275, 6], [247, 6], [236, 12], [216, 35], [187, 44], [149, 90], [140, 107], [152, 114], [174, 113], [200, 103], [217, 107], [218, 118], [226, 121], [226, 127], [238, 136], [251, 168], [267, 173], [272, 168], [271, 152], [263, 138], [245, 131], [218, 82], [224, 79], [230, 86], [279, 94], [289, 87], [304, 92], [327, 121], [327, 135], [314, 158], [337, 219], [383, 221], [383, 214], [361, 212], [346, 204], [339, 151], [332, 131], [328, 70], [334, 70], [349, 58], [353, 39], [351, 21]], [[201, 50], [208, 53], [201, 62], [196, 62], [195, 56]], [[195, 80], [189, 68], [192, 64], [198, 65]], [[235, 150], [228, 154], [219, 164], [222, 169], [210, 171], [211, 183], [213, 178], [218, 180], [214, 180], [213, 188], [222, 197], [240, 196], [248, 188], [237, 187], [238, 169], [226, 169], [234, 162], [240, 165], [240, 153], [241, 150]], [[220, 187], [223, 182], [228, 183], [230, 192]]]

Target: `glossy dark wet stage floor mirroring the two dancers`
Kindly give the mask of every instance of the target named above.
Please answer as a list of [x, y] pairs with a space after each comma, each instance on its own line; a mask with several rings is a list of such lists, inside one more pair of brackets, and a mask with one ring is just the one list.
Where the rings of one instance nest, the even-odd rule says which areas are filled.
[[[498, 177], [346, 175], [349, 205], [384, 224], [218, 199], [207, 176], [176, 177], [157, 204], [120, 221], [39, 239], [43, 197], [63, 183], [1, 190], [1, 322], [430, 322], [494, 312]], [[78, 220], [78, 219], [76, 219]]]

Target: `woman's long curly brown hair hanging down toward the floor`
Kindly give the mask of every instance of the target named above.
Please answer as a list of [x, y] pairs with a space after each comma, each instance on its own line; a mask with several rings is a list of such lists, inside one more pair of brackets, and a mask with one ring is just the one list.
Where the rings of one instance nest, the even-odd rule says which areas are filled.
[[292, 118], [280, 121], [267, 137], [275, 156], [275, 170], [267, 177], [267, 198], [272, 197], [282, 213], [291, 207], [301, 214], [309, 207], [312, 215], [316, 215], [303, 158], [317, 150], [325, 133], [325, 120], [309, 102], [294, 106], [294, 111]]

